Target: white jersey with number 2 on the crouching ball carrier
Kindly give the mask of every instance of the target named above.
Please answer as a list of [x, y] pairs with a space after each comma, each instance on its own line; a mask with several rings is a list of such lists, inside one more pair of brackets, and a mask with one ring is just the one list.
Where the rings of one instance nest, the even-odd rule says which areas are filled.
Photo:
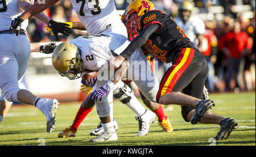
[[113, 57], [112, 51], [117, 54], [121, 53], [129, 44], [129, 40], [122, 35], [104, 33], [104, 35], [80, 36], [69, 43], [76, 45], [81, 50], [85, 69], [98, 71], [102, 67], [108, 66], [108, 59]]

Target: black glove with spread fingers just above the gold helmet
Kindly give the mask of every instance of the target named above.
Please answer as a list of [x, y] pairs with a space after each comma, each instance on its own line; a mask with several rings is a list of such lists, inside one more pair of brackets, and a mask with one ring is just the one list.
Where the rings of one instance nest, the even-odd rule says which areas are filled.
[[53, 35], [56, 37], [56, 40], [58, 40], [58, 33], [69, 36], [69, 34], [71, 33], [71, 28], [69, 28], [68, 26], [69, 24], [67, 23], [55, 22], [53, 20], [50, 20], [48, 24], [48, 27], [52, 29]]

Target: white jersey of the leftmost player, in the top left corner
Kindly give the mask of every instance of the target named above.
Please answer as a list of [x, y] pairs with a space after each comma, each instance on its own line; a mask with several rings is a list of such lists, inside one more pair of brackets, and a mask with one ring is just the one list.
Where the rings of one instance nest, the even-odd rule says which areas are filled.
[[[0, 31], [10, 29], [11, 21], [22, 14], [18, 8], [17, 0], [0, 0]], [[20, 29], [26, 31], [28, 20], [24, 20]]]

